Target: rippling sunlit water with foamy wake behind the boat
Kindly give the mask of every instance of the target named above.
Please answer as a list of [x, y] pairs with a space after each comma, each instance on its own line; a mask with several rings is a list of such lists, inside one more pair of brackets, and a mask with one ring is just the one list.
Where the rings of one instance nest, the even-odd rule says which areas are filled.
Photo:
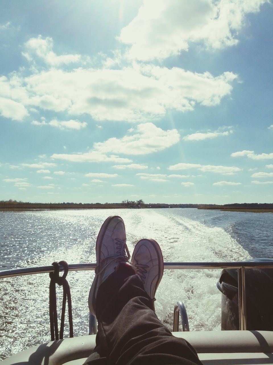
[[[109, 215], [122, 216], [130, 252], [140, 238], [153, 238], [160, 244], [165, 262], [273, 257], [270, 213], [179, 208], [0, 212], [0, 270], [61, 260], [68, 264], [96, 262], [96, 235]], [[165, 270], [155, 301], [159, 319], [171, 328], [174, 304], [181, 300], [190, 330], [219, 330], [221, 293], [216, 283], [220, 272]], [[88, 334], [87, 298], [93, 278], [93, 271], [67, 276], [75, 336]], [[48, 274], [0, 281], [0, 359], [50, 341], [49, 283]], [[57, 295], [61, 301], [61, 289]]]

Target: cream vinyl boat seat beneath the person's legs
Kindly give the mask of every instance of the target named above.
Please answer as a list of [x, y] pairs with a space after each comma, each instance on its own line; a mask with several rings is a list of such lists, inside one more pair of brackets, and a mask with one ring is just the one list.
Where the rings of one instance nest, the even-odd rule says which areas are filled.
[[[173, 332], [195, 348], [204, 365], [273, 364], [272, 331]], [[38, 345], [2, 361], [3, 365], [81, 365], [95, 347], [96, 335]]]

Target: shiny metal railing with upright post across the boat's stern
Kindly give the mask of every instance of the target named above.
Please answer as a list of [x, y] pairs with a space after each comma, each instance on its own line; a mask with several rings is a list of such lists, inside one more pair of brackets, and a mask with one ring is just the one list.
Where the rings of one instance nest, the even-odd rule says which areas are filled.
[[[95, 270], [96, 264], [71, 264], [68, 271]], [[273, 261], [241, 261], [241, 262], [164, 262], [164, 269], [237, 269], [238, 299], [239, 299], [239, 329], [246, 330], [246, 269], [272, 269]], [[62, 271], [62, 267], [60, 266]], [[23, 276], [54, 272], [54, 266], [38, 266], [33, 268], [0, 271], [0, 279], [12, 276]]]

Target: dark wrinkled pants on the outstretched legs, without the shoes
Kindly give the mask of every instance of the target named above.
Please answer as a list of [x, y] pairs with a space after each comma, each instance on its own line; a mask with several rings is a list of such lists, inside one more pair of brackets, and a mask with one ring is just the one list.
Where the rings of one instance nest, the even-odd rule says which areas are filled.
[[157, 318], [138, 275], [122, 265], [100, 286], [96, 304], [97, 347], [87, 364], [201, 364], [193, 347]]

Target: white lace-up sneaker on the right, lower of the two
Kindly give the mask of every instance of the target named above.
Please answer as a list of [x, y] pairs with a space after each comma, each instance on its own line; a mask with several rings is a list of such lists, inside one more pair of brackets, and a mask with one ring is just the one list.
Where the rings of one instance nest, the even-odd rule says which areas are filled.
[[138, 241], [132, 254], [131, 264], [141, 278], [146, 293], [154, 302], [155, 292], [164, 269], [163, 256], [158, 243], [154, 239]]

